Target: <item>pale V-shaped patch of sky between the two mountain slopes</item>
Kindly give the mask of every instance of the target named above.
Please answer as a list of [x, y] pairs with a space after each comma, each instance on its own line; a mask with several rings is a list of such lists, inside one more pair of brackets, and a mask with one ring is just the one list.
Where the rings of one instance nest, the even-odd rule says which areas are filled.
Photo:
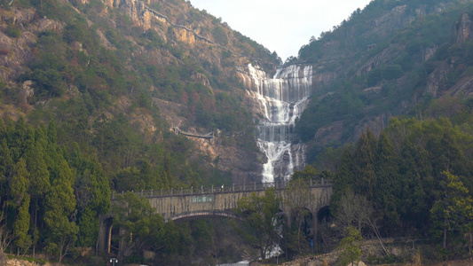
[[371, 0], [190, 0], [230, 27], [276, 51], [284, 61], [297, 56], [311, 36], [319, 37]]

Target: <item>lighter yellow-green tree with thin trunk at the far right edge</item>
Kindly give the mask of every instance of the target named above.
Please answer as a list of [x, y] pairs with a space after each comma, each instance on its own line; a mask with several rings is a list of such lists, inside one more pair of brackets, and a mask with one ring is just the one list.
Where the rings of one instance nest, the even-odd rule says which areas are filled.
[[446, 249], [447, 232], [459, 231], [462, 225], [473, 221], [473, 199], [458, 176], [447, 171], [442, 174], [446, 177], [442, 184], [444, 191], [441, 199], [430, 209], [430, 213], [433, 215], [433, 220], [441, 224], [442, 247]]

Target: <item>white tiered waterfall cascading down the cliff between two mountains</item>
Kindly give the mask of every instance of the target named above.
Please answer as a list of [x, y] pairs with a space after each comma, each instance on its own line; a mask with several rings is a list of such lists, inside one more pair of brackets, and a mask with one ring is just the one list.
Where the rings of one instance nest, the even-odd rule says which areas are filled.
[[273, 78], [251, 64], [241, 72], [263, 118], [257, 127], [259, 148], [268, 158], [263, 182], [288, 179], [294, 168], [304, 165], [304, 146], [292, 145], [292, 141], [296, 118], [311, 96], [312, 66], [280, 68]]

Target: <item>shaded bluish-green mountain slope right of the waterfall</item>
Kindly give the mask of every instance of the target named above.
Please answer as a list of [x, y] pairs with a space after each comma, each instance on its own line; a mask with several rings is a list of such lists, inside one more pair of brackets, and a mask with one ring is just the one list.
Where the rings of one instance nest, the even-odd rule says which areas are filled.
[[[319, 73], [296, 124], [312, 162], [327, 145], [379, 134], [393, 115], [430, 116], [432, 100], [470, 94], [472, 1], [373, 1], [291, 63]], [[462, 91], [462, 92], [461, 92]], [[442, 115], [448, 115], [443, 113]]]

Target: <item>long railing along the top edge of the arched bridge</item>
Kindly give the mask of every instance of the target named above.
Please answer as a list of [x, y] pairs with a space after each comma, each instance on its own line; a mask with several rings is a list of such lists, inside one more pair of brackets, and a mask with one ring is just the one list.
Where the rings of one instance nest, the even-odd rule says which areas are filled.
[[[140, 191], [133, 192], [141, 198], [154, 198], [154, 197], [169, 197], [169, 196], [180, 196], [180, 195], [196, 195], [196, 194], [215, 194], [215, 193], [232, 193], [232, 192], [251, 192], [251, 191], [263, 191], [265, 189], [274, 187], [276, 190], [285, 189], [290, 181], [280, 181], [271, 183], [249, 183], [249, 184], [232, 184], [232, 185], [212, 185], [210, 187], [191, 187], [191, 188], [173, 188], [169, 190], [158, 190], [158, 191]], [[331, 185], [332, 180], [311, 179], [306, 182], [310, 187]], [[117, 193], [112, 192], [112, 200], [115, 199], [117, 194], [123, 194], [124, 192]]]

